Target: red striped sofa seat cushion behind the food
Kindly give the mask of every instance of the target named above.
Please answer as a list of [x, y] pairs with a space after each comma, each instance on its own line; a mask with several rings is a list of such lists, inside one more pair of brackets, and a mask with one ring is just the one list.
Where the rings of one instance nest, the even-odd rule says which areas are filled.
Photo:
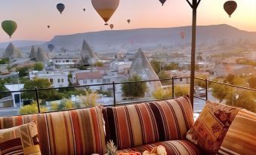
[[168, 155], [189, 155], [189, 154], [201, 154], [201, 150], [199, 147], [196, 147], [195, 144], [191, 143], [190, 141], [186, 140], [176, 140], [176, 141], [163, 141], [163, 142], [157, 142], [154, 144], [147, 144], [147, 145], [142, 145], [139, 147], [133, 147], [129, 148], [126, 150], [123, 150], [124, 152], [130, 152], [130, 151], [137, 151], [140, 153], [143, 153], [145, 150], [152, 150], [153, 147], [162, 145], [165, 147], [166, 152]]

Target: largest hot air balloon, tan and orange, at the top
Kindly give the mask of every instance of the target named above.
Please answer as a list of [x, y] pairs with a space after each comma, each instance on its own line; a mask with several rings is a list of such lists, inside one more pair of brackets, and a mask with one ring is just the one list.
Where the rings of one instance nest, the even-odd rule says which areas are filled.
[[91, 0], [91, 4], [107, 26], [107, 22], [119, 6], [119, 0]]

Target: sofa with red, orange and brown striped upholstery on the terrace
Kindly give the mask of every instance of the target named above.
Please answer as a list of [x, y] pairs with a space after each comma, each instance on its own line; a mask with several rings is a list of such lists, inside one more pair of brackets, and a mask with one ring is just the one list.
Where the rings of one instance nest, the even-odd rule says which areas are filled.
[[[186, 139], [194, 123], [187, 96], [117, 107], [0, 117], [0, 129], [31, 121], [37, 124], [39, 146], [44, 155], [104, 154], [109, 140], [124, 152], [142, 153], [162, 145], [167, 154], [205, 154], [202, 147]], [[241, 109], [217, 153], [254, 154], [254, 135], [256, 114]]]

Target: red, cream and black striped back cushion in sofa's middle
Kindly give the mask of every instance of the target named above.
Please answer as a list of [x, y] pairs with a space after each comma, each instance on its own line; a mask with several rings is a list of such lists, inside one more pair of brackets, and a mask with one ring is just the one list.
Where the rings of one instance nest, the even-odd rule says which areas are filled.
[[147, 102], [104, 108], [106, 140], [119, 150], [185, 138], [193, 125], [190, 99], [186, 96], [161, 102]]

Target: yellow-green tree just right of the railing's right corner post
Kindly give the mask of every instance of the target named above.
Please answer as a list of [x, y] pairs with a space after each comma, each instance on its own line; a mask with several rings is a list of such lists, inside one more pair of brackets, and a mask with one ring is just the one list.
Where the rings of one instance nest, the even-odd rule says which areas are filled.
[[223, 84], [211, 84], [212, 96], [217, 98], [221, 103], [232, 91], [231, 87], [225, 86]]

